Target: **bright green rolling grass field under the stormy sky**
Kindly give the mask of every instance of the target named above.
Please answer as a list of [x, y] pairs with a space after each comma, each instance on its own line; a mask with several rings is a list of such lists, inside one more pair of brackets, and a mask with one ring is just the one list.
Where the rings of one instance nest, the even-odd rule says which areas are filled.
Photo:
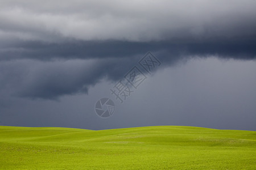
[[256, 169], [256, 132], [0, 126], [0, 169]]

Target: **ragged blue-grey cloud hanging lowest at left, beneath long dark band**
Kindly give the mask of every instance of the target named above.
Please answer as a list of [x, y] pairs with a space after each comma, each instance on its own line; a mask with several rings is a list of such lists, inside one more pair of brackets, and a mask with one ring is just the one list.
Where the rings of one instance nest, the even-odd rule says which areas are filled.
[[0, 63], [0, 77], [5, 80], [0, 86], [12, 96], [57, 100], [63, 95], [88, 93], [102, 78], [121, 78], [132, 63], [131, 59], [6, 61]]

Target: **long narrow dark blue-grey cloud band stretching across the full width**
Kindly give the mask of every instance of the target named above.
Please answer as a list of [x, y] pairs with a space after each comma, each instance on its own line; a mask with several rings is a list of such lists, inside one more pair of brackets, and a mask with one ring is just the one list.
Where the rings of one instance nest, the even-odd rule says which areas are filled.
[[[256, 35], [255, 35], [256, 36]], [[69, 40], [60, 43], [40, 41], [15, 42], [0, 50], [2, 60], [9, 59], [90, 59], [125, 58], [142, 56], [148, 50], [166, 52], [166, 57], [218, 55], [222, 57], [253, 59], [256, 57], [256, 37], [217, 37], [214, 39], [168, 40], [134, 42], [121, 40], [81, 41]]]

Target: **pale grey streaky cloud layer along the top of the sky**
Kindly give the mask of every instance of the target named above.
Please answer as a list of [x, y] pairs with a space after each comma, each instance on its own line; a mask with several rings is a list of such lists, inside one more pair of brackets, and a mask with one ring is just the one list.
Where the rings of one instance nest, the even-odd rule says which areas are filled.
[[[1, 1], [2, 34], [27, 40], [152, 41], [255, 34], [255, 1]], [[53, 37], [52, 37], [53, 36]], [[59, 39], [58, 39], [59, 38]]]

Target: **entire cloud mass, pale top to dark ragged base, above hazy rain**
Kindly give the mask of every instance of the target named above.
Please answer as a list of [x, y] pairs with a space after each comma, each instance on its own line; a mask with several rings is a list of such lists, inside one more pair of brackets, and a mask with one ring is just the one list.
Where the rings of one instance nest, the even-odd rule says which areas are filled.
[[1, 1], [0, 86], [57, 99], [117, 80], [147, 51], [256, 58], [255, 1]]

